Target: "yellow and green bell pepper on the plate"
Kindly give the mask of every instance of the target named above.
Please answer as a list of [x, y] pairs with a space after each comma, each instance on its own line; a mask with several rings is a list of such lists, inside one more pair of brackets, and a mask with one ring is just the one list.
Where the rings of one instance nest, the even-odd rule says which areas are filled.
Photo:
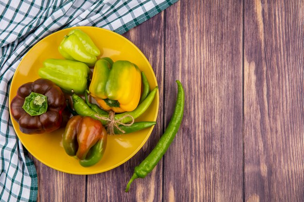
[[95, 63], [89, 91], [105, 110], [133, 111], [140, 99], [140, 70], [129, 61], [102, 58]]

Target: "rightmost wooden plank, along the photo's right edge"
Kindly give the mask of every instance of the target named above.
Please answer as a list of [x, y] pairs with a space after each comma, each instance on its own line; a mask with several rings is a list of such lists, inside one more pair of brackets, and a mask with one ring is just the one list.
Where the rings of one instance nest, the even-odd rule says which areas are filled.
[[304, 201], [304, 1], [249, 0], [244, 33], [247, 202]]

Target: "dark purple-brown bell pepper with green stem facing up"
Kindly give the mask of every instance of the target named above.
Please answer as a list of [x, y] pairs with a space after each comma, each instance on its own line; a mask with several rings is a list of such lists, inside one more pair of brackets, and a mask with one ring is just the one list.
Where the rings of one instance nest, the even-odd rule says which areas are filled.
[[39, 134], [52, 132], [61, 126], [66, 100], [55, 83], [39, 78], [21, 85], [10, 107], [21, 132]]

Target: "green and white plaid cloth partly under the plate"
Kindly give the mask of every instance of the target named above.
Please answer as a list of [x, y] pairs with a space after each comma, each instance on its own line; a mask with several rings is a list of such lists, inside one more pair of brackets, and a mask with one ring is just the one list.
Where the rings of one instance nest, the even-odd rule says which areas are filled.
[[0, 202], [37, 200], [37, 173], [14, 131], [8, 93], [15, 70], [39, 40], [68, 27], [124, 33], [177, 0], [0, 0]]

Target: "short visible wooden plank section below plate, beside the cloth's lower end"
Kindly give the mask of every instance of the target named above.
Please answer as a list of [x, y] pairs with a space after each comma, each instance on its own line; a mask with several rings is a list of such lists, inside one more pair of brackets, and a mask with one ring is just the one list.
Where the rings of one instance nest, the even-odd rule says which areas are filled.
[[56, 171], [30, 155], [38, 176], [37, 202], [85, 202], [85, 175], [73, 175]]

